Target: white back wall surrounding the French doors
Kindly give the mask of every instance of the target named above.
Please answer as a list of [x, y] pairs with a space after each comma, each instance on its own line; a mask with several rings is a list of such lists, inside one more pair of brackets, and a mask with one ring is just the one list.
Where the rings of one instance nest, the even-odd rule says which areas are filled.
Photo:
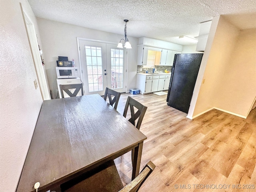
[[[56, 98], [56, 60], [58, 56], [68, 56], [69, 59], [74, 59], [76, 66], [79, 68], [78, 48], [76, 38], [87, 38], [93, 40], [116, 42], [124, 38], [124, 35], [118, 35], [80, 26], [65, 24], [52, 20], [38, 18], [38, 26], [42, 45], [44, 47], [44, 60], [46, 62], [48, 81], [50, 89]], [[128, 82], [127, 90], [136, 87], [136, 73], [137, 73], [137, 44], [138, 38], [128, 36], [132, 49], [128, 50]]]

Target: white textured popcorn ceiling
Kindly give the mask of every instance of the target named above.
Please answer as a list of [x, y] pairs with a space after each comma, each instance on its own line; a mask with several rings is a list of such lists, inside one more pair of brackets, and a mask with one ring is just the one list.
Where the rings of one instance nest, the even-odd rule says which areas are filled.
[[[241, 29], [256, 28], [256, 0], [28, 0], [39, 18], [86, 28], [191, 44], [179, 36], [198, 36], [200, 22], [229, 15]], [[243, 15], [246, 15], [246, 22]], [[239, 16], [236, 16], [239, 15]], [[234, 16], [234, 17], [233, 17]], [[248, 20], [248, 18], [250, 18]]]

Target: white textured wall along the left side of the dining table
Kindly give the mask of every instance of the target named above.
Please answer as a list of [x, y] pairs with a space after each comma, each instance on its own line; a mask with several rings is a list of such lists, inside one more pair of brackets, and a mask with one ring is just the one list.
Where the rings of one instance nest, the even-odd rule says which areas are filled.
[[[42, 105], [20, 2], [33, 21], [27, 0], [0, 2], [0, 191], [14, 192]], [[38, 33], [38, 37], [39, 33]]]

